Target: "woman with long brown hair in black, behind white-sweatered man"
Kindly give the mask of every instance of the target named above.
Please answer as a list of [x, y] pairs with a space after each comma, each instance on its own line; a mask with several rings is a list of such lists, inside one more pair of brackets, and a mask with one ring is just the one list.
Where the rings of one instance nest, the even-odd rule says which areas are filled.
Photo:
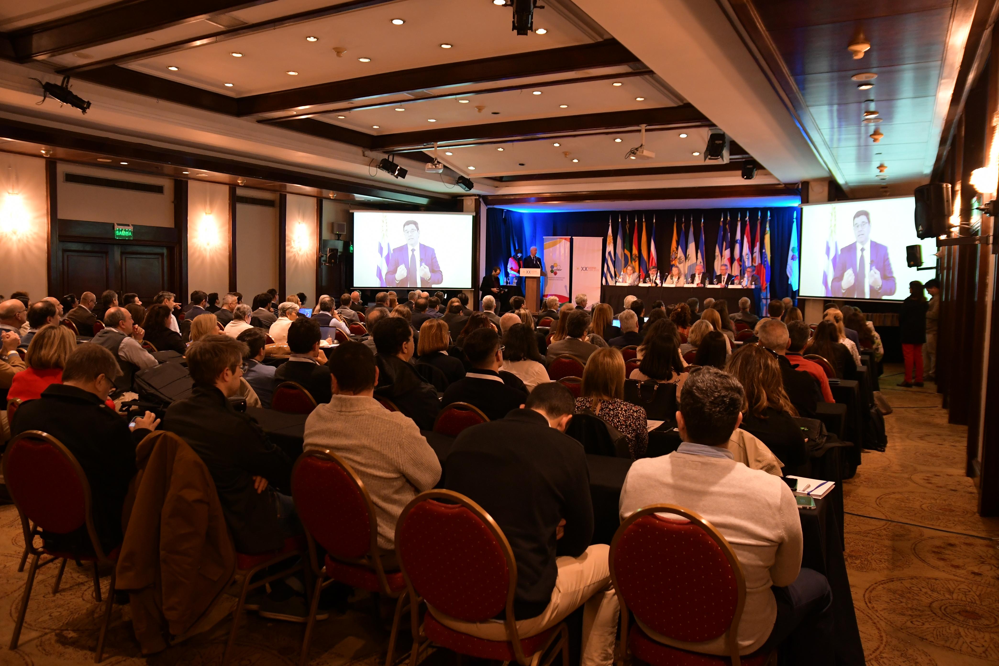
[[761, 439], [784, 467], [804, 465], [808, 461], [805, 438], [794, 420], [798, 411], [784, 390], [777, 356], [759, 344], [743, 344], [728, 359], [725, 370], [745, 391], [739, 427]]

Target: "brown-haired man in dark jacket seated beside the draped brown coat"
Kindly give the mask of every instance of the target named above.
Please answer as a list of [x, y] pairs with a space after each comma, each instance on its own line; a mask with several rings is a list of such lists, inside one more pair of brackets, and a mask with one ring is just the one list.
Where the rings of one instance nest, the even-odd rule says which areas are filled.
[[283, 547], [301, 526], [285, 494], [291, 490], [291, 460], [253, 416], [229, 401], [240, 389], [246, 348], [229, 335], [192, 342], [186, 356], [194, 390], [170, 405], [163, 429], [183, 437], [205, 462], [237, 552], [258, 554]]

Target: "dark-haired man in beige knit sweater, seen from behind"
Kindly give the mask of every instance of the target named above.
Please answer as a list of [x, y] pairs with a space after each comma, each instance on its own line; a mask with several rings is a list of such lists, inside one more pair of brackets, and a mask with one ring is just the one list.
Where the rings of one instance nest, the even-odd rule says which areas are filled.
[[329, 365], [333, 397], [306, 419], [303, 448], [336, 453], [357, 472], [375, 504], [378, 545], [394, 560], [399, 514], [437, 485], [441, 463], [411, 418], [375, 399], [378, 367], [371, 349], [343, 342]]

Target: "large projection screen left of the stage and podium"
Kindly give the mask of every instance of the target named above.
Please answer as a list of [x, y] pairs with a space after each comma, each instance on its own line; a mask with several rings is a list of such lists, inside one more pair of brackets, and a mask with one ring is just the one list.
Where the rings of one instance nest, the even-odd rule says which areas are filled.
[[404, 301], [415, 289], [473, 289], [468, 213], [351, 211], [354, 287], [392, 289]]

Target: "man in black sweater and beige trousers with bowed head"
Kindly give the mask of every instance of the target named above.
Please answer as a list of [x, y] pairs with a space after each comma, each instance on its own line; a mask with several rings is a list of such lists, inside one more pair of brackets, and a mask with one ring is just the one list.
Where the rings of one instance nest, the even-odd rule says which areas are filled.
[[[589, 545], [593, 509], [586, 456], [563, 434], [572, 395], [558, 383], [540, 384], [525, 407], [466, 428], [445, 462], [444, 486], [482, 506], [509, 540], [517, 568], [513, 611], [521, 638], [555, 626], [585, 604], [580, 663], [610, 664], [618, 605], [610, 585], [609, 547]], [[501, 622], [438, 618], [463, 633], [505, 639]]]

